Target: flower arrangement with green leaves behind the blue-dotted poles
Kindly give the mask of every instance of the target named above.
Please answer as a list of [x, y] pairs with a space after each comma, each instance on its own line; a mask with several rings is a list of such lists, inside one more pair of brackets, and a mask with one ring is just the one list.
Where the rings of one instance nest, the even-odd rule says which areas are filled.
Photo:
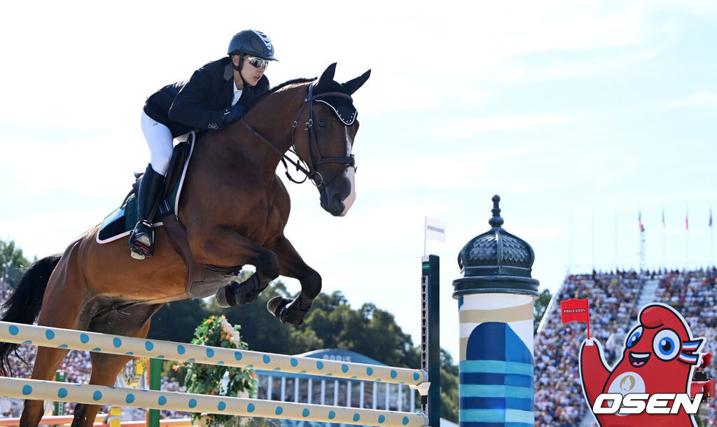
[[[232, 326], [227, 318], [212, 316], [199, 324], [194, 330], [192, 344], [247, 350], [246, 342], [239, 339], [240, 326]], [[189, 393], [204, 395], [222, 395], [249, 397], [258, 388], [254, 370], [234, 368], [226, 365], [205, 365], [203, 363], [185, 363], [187, 368], [186, 390]], [[234, 425], [232, 415], [192, 413], [191, 421], [208, 427]]]

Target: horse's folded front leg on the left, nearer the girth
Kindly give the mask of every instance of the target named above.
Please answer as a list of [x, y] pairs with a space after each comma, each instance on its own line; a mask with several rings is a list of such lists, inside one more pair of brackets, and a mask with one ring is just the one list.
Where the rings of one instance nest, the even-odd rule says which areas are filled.
[[[228, 308], [255, 302], [259, 294], [266, 289], [269, 282], [279, 277], [279, 260], [277, 254], [263, 246], [255, 244], [244, 236], [224, 237], [219, 246], [223, 249], [222, 257], [227, 257], [221, 264], [243, 265], [252, 264], [256, 272], [244, 282], [232, 282], [217, 289], [217, 304]], [[212, 262], [210, 264], [219, 264]]]

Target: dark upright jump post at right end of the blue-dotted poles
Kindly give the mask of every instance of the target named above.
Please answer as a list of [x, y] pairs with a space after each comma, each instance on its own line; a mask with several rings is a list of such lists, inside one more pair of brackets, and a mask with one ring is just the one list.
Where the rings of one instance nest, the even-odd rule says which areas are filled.
[[428, 425], [440, 426], [440, 262], [437, 255], [424, 256], [421, 264], [421, 369], [428, 373], [431, 386], [421, 396], [421, 411], [428, 415]]

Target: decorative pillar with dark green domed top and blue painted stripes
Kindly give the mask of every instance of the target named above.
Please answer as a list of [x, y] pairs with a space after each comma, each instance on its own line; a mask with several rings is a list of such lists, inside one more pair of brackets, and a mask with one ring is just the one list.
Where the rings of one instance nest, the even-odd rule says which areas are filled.
[[533, 427], [533, 248], [505, 231], [493, 196], [489, 231], [458, 255], [461, 427]]

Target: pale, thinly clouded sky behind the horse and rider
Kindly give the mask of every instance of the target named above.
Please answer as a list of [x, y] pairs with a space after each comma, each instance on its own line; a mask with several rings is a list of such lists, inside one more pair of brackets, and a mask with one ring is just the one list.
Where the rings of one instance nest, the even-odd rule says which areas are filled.
[[4, 6], [0, 239], [42, 257], [102, 221], [148, 163], [146, 97], [253, 28], [280, 59], [272, 85], [333, 62], [340, 82], [371, 69], [354, 94], [356, 202], [334, 218], [312, 186], [288, 183], [285, 234], [324, 292], [394, 313], [414, 343], [424, 216], [447, 224], [427, 250], [441, 257], [441, 347], [457, 360], [456, 257], [490, 228], [494, 194], [503, 228], [536, 252], [540, 289], [639, 269], [640, 214], [648, 268], [714, 264], [714, 1], [299, 4]]

